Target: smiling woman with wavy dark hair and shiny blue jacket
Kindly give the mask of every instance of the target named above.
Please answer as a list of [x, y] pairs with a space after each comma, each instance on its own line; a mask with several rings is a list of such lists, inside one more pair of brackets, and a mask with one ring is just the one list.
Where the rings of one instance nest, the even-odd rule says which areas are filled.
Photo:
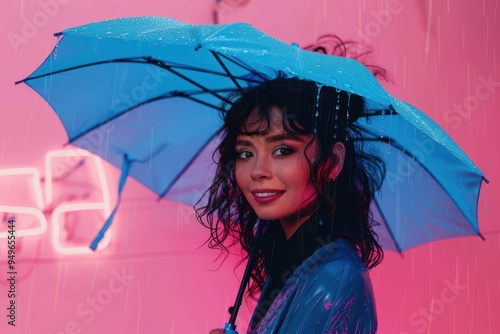
[[249, 253], [260, 234], [249, 333], [376, 331], [366, 270], [383, 253], [369, 206], [385, 169], [363, 152], [363, 110], [357, 95], [279, 78], [224, 115], [217, 173], [197, 213], [210, 247], [239, 242]]

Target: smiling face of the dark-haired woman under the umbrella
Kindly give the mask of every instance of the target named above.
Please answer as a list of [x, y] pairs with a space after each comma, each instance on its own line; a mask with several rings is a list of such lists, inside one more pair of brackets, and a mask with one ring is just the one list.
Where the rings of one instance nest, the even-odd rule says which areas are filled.
[[[267, 127], [265, 120], [256, 123], [256, 119], [254, 110], [247, 120], [249, 132]], [[318, 145], [314, 141], [307, 147], [313, 135], [295, 136], [284, 130], [282, 110], [273, 107], [267, 133], [236, 138], [236, 183], [261, 219], [302, 223], [308, 217], [300, 217], [300, 210], [316, 199], [308, 160], [318, 159]]]

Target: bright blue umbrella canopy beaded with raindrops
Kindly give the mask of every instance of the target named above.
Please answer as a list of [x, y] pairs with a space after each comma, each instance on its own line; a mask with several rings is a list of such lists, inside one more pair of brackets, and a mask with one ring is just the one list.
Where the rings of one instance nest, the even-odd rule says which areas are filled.
[[[214, 171], [226, 96], [298, 77], [364, 98], [365, 149], [387, 176], [372, 203], [386, 249], [480, 235], [481, 171], [429, 117], [390, 95], [361, 63], [302, 50], [248, 24], [159, 17], [71, 28], [22, 80], [61, 119], [69, 142], [122, 168], [160, 196], [195, 203]], [[123, 182], [121, 182], [121, 187]]]

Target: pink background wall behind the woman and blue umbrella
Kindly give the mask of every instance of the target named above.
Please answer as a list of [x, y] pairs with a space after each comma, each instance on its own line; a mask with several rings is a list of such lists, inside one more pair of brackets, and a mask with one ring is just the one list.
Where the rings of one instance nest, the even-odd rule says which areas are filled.
[[[52, 34], [122, 16], [211, 23], [214, 1], [24, 0], [3, 7], [0, 170], [36, 168], [41, 181], [35, 184], [44, 189], [46, 153], [61, 149], [67, 138], [48, 105], [14, 81], [45, 59], [56, 41]], [[490, 180], [479, 200], [486, 241], [451, 239], [403, 256], [387, 252], [372, 271], [380, 333], [500, 332], [499, 16], [493, 0], [227, 0], [219, 5], [221, 23], [246, 21], [286, 42], [304, 45], [336, 33], [372, 44], [375, 60], [392, 74], [389, 91], [425, 110]], [[106, 249], [93, 254], [55, 249], [57, 208], [102, 201], [92, 161], [78, 167], [68, 159], [52, 167], [50, 204], [47, 198], [37, 204], [27, 175], [0, 175], [0, 205], [38, 206], [48, 222], [44, 233], [17, 238], [16, 327], [7, 325], [7, 247], [0, 239], [0, 332], [184, 334], [222, 326], [241, 272], [233, 272], [237, 258], [216, 270], [217, 252], [199, 247], [206, 231], [190, 209], [156, 202], [134, 181], [127, 183]], [[105, 164], [105, 176], [113, 203], [118, 171]], [[0, 214], [2, 232], [8, 217]], [[86, 244], [102, 216], [103, 210], [62, 215], [62, 246]], [[16, 220], [18, 231], [40, 226], [32, 214], [17, 214]], [[249, 307], [242, 308], [242, 333]]]

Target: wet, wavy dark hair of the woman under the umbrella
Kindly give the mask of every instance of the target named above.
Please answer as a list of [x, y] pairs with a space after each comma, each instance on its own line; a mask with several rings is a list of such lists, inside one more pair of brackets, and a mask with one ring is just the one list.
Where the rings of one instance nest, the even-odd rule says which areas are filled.
[[[206, 204], [197, 207], [198, 220], [208, 227], [211, 248], [228, 252], [240, 243], [249, 254], [256, 234], [258, 217], [236, 184], [235, 142], [239, 134], [252, 135], [246, 125], [249, 115], [258, 111], [259, 121], [269, 130], [270, 110], [282, 110], [282, 124], [289, 134], [315, 134], [320, 155], [314, 164], [309, 161], [310, 181], [318, 194], [320, 219], [330, 228], [318, 237], [332, 241], [349, 240], [358, 250], [365, 266], [379, 264], [383, 251], [376, 240], [371, 219], [370, 203], [385, 176], [382, 160], [363, 151], [363, 138], [356, 120], [364, 115], [362, 97], [332, 87], [318, 87], [311, 81], [278, 78], [263, 82], [229, 98], [232, 105], [223, 113], [221, 142], [214, 161], [217, 164], [212, 186], [205, 193]], [[317, 115], [317, 116], [316, 116]], [[335, 182], [328, 180], [335, 156], [333, 146], [342, 142], [346, 148], [342, 171]], [[307, 159], [307, 157], [306, 157]], [[303, 213], [311, 214], [311, 212]], [[250, 295], [260, 291], [266, 279], [263, 248], [257, 252], [252, 271]]]

